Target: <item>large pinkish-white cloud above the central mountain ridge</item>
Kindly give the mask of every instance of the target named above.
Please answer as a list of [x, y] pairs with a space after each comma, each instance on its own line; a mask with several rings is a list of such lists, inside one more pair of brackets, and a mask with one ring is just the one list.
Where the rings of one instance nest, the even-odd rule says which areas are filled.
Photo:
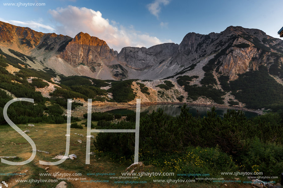
[[79, 32], [88, 33], [98, 37], [109, 45], [110, 48], [120, 51], [125, 46], [150, 47], [171, 40], [161, 41], [156, 37], [136, 31], [134, 26], [127, 28], [118, 22], [110, 21], [102, 17], [101, 12], [85, 7], [68, 6], [49, 10], [56, 22], [56, 33], [74, 37]]

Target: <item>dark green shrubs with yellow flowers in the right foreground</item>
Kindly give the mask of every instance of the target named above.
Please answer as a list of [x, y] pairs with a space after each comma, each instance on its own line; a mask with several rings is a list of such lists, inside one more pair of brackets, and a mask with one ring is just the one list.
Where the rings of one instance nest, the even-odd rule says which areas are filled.
[[[268, 119], [269, 114], [266, 114], [250, 121], [242, 111], [235, 110], [227, 110], [222, 119], [216, 115], [215, 108], [204, 118], [193, 117], [187, 106], [182, 107], [177, 117], [168, 116], [159, 109], [140, 118], [139, 160], [175, 173], [219, 176], [225, 169], [276, 176], [283, 170], [281, 115]], [[104, 122], [103, 126], [104, 129], [134, 129], [135, 123]], [[255, 129], [256, 132], [252, 131]], [[101, 156], [131, 164], [134, 138], [132, 133], [99, 133], [94, 146], [101, 151]]]

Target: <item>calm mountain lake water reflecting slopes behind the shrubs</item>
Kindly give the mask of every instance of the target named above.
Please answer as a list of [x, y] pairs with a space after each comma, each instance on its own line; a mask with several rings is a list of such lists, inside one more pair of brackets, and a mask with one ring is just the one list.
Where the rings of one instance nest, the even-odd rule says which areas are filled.
[[[152, 105], [152, 106], [141, 106], [140, 107], [140, 112], [145, 112], [145, 113], [152, 113], [153, 110], [157, 111], [159, 108], [164, 110], [164, 113], [170, 115], [170, 116], [177, 116], [180, 115], [181, 113], [181, 107], [182, 105]], [[210, 111], [211, 107], [207, 106], [189, 106], [189, 112], [193, 114], [193, 116], [206, 116], [207, 111]], [[129, 114], [135, 112], [135, 108], [127, 108], [127, 109], [116, 109], [116, 110], [111, 110], [108, 111], [113, 114]], [[219, 117], [223, 118], [224, 114], [227, 113], [227, 109], [224, 108], [216, 108], [215, 112], [219, 115]], [[257, 113], [254, 112], [249, 112], [249, 111], [244, 111], [245, 115], [247, 118], [252, 118], [258, 116]]]

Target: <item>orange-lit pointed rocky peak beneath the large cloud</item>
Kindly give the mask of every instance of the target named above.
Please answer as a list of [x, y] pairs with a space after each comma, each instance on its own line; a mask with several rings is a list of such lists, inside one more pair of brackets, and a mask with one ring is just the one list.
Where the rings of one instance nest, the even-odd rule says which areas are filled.
[[60, 57], [72, 66], [101, 66], [103, 61], [110, 61], [117, 55], [105, 41], [91, 37], [87, 33], [79, 33], [68, 43]]

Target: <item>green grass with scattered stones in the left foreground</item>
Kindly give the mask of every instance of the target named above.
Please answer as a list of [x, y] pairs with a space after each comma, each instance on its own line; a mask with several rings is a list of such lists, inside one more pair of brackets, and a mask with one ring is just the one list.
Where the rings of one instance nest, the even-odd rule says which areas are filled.
[[[92, 122], [94, 125], [97, 122]], [[24, 125], [18, 125], [19, 128], [22, 130], [26, 130], [27, 127]], [[27, 164], [22, 166], [11, 166], [6, 165], [4, 163], [0, 163], [1, 173], [23, 173], [24, 170], [28, 170], [26, 173], [27, 179], [54, 179], [51, 176], [39, 176], [39, 173], [46, 173], [46, 171], [38, 164], [39, 160], [48, 161], [48, 162], [55, 162], [58, 159], [52, 159], [57, 154], [64, 154], [65, 153], [65, 140], [66, 140], [66, 124], [35, 124], [35, 127], [29, 127], [31, 133], [28, 135], [31, 136], [31, 139], [35, 142], [36, 149], [48, 151], [50, 154], [45, 153], [36, 153], [35, 159]], [[35, 131], [38, 130], [38, 131]], [[46, 133], [44, 133], [46, 131]], [[18, 159], [7, 159], [14, 162], [21, 162], [26, 160], [31, 156], [31, 146], [29, 143], [10, 126], [0, 126], [0, 132], [3, 137], [1, 137], [1, 156], [11, 156], [16, 155], [19, 156]], [[77, 134], [74, 134], [77, 133]], [[83, 134], [84, 137], [78, 136], [78, 134]], [[91, 144], [90, 151], [94, 151], [97, 153], [96, 156], [90, 155], [90, 165], [85, 164], [85, 144], [86, 144], [86, 127], [84, 126], [83, 129], [71, 129], [70, 133], [70, 152], [69, 154], [76, 154], [76, 160], [66, 160], [65, 162], [61, 163], [60, 165], [54, 166], [58, 168], [56, 171], [60, 171], [61, 173], [81, 173], [83, 177], [88, 178], [89, 180], [109, 180], [108, 183], [102, 183], [98, 185], [107, 185], [113, 187], [119, 187], [121, 185], [117, 185], [114, 183], [114, 179], [110, 179], [109, 176], [95, 176], [95, 175], [87, 175], [87, 173], [115, 173], [115, 176], [121, 176], [121, 172], [125, 172], [125, 169], [131, 164], [129, 163], [119, 163], [114, 161], [113, 159], [107, 156], [101, 156], [99, 151], [94, 148], [94, 145]], [[93, 133], [92, 135], [96, 136], [97, 133]], [[48, 139], [47, 139], [48, 138]], [[77, 139], [81, 139], [82, 143], [77, 142]], [[12, 143], [13, 142], [13, 143]], [[91, 138], [91, 142], [93, 142], [93, 138]], [[3, 145], [3, 146], [2, 146]], [[45, 166], [44, 166], [45, 167]], [[54, 168], [50, 166], [50, 169]], [[146, 166], [141, 169], [144, 172], [160, 172], [160, 168], [155, 166]], [[53, 172], [54, 173], [54, 172]], [[114, 176], [114, 175], [113, 175]], [[13, 176], [0, 176], [1, 180], [6, 180], [6, 182], [13, 181], [13, 178], [16, 179], [25, 179], [23, 177], [13, 177]], [[68, 178], [68, 176], [67, 176]], [[70, 178], [73, 178], [70, 176]], [[142, 177], [140, 179], [136, 179], [135, 181], [147, 181], [147, 184], [136, 185], [133, 184], [132, 187], [152, 187], [156, 184], [152, 182], [152, 177]], [[157, 177], [155, 178], [157, 179]], [[158, 177], [158, 179], [167, 179], [167, 177]], [[116, 179], [118, 180], [118, 179]], [[65, 180], [58, 180], [57, 183], [16, 183], [16, 186], [19, 187], [55, 187], [60, 181]], [[80, 181], [80, 180], [78, 180]], [[78, 182], [77, 181], [77, 182]], [[118, 180], [119, 181], [119, 180]], [[15, 182], [15, 180], [13, 181]], [[74, 181], [65, 181], [67, 182], [67, 187], [77, 187], [74, 186]], [[72, 185], [73, 183], [73, 185]], [[92, 183], [93, 184], [93, 183]], [[82, 184], [78, 184], [82, 185]], [[167, 183], [159, 183], [159, 185], [167, 186]], [[172, 184], [173, 185], [173, 184]], [[176, 184], [174, 184], [176, 185]], [[179, 187], [187, 187], [188, 184], [177, 184]], [[190, 184], [189, 184], [190, 185]], [[191, 183], [192, 186], [199, 187], [205, 185], [205, 187], [213, 187], [203, 183]]]

